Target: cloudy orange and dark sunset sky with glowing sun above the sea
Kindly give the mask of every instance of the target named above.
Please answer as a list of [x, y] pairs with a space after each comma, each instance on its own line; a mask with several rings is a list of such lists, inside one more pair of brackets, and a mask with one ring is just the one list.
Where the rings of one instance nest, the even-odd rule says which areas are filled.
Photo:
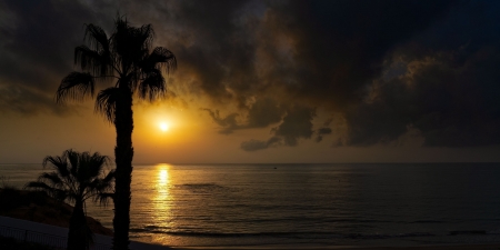
[[70, 148], [112, 158], [93, 100], [54, 93], [80, 70], [84, 24], [111, 34], [118, 13], [152, 24], [178, 61], [162, 100], [133, 103], [134, 163], [500, 161], [499, 12], [489, 0], [4, 0], [0, 163]]

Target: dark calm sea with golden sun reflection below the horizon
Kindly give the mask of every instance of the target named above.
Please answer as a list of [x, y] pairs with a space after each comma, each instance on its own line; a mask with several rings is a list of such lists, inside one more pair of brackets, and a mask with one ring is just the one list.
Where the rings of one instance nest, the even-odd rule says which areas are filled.
[[[49, 169], [0, 164], [22, 188]], [[170, 247], [500, 242], [500, 163], [137, 164], [131, 240]], [[112, 228], [112, 206], [87, 204]]]

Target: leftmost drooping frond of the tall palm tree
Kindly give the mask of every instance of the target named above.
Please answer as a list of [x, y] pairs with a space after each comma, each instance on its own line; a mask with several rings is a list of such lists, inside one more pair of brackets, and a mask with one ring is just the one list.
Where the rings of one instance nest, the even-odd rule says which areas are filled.
[[90, 73], [72, 72], [62, 79], [56, 92], [56, 102], [61, 103], [68, 99], [77, 101], [94, 94], [93, 77]]

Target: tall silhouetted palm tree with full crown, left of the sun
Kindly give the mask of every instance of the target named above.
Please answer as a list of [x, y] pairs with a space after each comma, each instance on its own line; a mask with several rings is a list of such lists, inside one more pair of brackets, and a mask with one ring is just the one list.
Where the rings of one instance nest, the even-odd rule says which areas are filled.
[[74, 63], [82, 72], [71, 72], [58, 88], [58, 103], [68, 99], [94, 97], [96, 82], [114, 81], [97, 94], [96, 111], [102, 113], [117, 130], [117, 164], [113, 249], [128, 249], [130, 226], [130, 183], [132, 181], [132, 98], [153, 101], [164, 96], [162, 72], [177, 68], [176, 57], [166, 48], [151, 50], [154, 31], [151, 24], [136, 28], [118, 16], [111, 36], [94, 24], [86, 24], [89, 47], [74, 49]]

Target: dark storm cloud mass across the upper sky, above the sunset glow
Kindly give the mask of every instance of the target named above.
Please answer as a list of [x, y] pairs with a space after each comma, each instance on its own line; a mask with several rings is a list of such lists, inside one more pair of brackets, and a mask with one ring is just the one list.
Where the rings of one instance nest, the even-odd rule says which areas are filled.
[[[157, 42], [179, 60], [169, 83], [184, 86], [187, 100], [210, 100], [198, 108], [219, 133], [269, 131], [242, 142], [242, 150], [303, 140], [368, 147], [409, 134], [424, 147], [500, 143], [498, 2], [43, 0], [0, 7], [4, 111], [59, 113], [48, 100], [72, 69], [83, 23], [107, 27], [120, 11], [133, 23], [153, 24]], [[327, 119], [318, 110], [334, 122], [314, 122]]]

